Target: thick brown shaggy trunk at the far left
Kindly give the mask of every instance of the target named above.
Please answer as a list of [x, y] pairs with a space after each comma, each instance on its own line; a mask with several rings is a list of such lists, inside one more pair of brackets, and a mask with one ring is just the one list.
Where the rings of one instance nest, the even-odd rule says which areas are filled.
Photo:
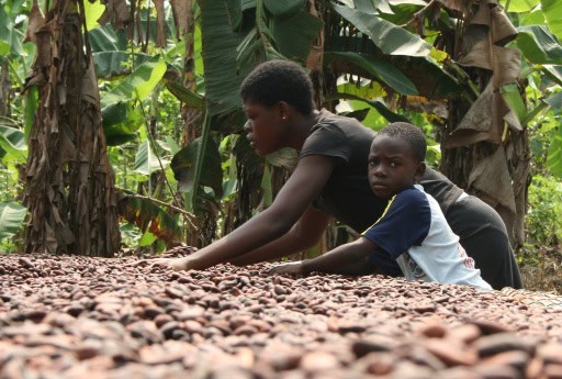
[[54, 1], [30, 31], [37, 57], [26, 87], [37, 86], [40, 107], [29, 143], [25, 250], [112, 257], [121, 243], [114, 175], [81, 1]]

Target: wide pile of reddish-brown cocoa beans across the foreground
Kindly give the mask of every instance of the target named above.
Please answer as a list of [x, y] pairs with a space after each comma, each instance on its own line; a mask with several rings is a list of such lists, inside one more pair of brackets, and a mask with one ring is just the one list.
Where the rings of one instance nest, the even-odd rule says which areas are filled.
[[562, 312], [382, 276], [0, 255], [0, 379], [555, 379]]

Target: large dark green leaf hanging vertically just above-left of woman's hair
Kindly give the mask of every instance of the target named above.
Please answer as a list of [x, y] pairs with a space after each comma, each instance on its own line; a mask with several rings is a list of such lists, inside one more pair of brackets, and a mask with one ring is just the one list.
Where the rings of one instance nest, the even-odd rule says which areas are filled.
[[205, 66], [205, 98], [210, 115], [241, 108], [239, 88], [251, 67], [236, 67], [236, 47], [246, 33], [233, 32], [222, 1], [202, 1], [201, 32]]

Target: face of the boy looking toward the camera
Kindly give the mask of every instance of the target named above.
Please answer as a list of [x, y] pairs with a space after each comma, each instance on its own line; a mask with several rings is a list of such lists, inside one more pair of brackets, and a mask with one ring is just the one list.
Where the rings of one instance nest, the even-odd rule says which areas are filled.
[[374, 194], [389, 199], [415, 183], [425, 164], [414, 158], [408, 145], [386, 135], [378, 136], [369, 153], [369, 183]]

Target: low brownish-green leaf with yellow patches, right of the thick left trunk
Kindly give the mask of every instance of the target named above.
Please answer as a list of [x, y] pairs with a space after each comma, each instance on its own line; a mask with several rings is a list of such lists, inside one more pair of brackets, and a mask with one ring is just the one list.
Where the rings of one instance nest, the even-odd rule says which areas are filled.
[[165, 242], [172, 242], [181, 236], [178, 220], [150, 199], [124, 196], [117, 202], [117, 212], [121, 218], [138, 226], [143, 233], [148, 231]]

